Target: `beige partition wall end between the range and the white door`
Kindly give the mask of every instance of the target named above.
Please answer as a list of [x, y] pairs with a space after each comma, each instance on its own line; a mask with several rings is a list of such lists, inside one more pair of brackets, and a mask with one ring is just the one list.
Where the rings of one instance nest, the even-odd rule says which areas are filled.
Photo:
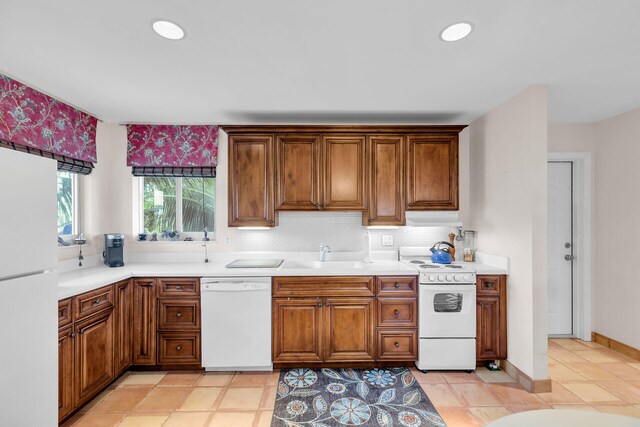
[[532, 86], [469, 127], [470, 224], [508, 256], [509, 361], [547, 378], [547, 89]]

